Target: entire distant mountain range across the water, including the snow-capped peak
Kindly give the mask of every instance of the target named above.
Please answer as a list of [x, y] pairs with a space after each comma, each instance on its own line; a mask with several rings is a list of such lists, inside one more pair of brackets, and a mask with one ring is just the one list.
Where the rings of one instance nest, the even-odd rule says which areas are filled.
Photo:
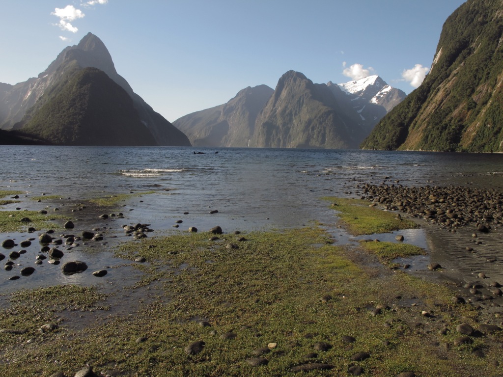
[[247, 87], [228, 103], [173, 124], [198, 146], [356, 148], [404, 97], [379, 76], [315, 84], [292, 70], [275, 90]]

